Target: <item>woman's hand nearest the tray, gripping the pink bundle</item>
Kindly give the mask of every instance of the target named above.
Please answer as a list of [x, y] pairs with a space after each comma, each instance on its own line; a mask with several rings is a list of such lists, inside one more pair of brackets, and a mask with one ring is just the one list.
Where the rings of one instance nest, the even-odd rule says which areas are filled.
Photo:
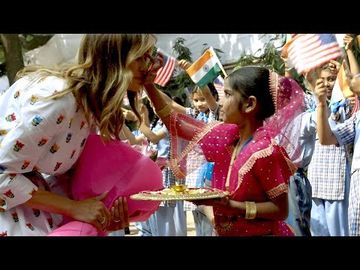
[[116, 199], [110, 209], [111, 220], [107, 231], [117, 231], [129, 227], [128, 205], [125, 197]]

